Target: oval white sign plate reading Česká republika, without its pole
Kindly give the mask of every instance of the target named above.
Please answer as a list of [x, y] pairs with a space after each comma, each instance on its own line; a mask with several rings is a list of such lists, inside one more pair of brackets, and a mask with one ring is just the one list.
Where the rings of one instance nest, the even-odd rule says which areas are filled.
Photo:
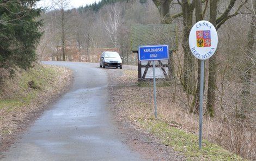
[[189, 37], [190, 50], [200, 60], [209, 59], [218, 45], [217, 31], [210, 22], [198, 21], [192, 27]]

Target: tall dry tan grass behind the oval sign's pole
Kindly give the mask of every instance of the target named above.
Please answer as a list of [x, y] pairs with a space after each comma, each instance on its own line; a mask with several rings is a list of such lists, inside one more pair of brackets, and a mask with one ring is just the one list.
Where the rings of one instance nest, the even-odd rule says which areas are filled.
[[[159, 100], [158, 104], [161, 118], [166, 120], [169, 125], [198, 134], [199, 117], [197, 114], [188, 113], [177, 103]], [[204, 116], [203, 138], [245, 158], [255, 159], [255, 129], [240, 125], [235, 120], [230, 120], [224, 113], [215, 118]]]

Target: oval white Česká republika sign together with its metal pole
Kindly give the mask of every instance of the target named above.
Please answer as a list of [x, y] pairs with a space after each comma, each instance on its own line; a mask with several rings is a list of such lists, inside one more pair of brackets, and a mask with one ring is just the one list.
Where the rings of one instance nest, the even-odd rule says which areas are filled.
[[199, 101], [199, 150], [202, 149], [203, 100], [204, 100], [204, 60], [214, 55], [218, 45], [218, 34], [208, 21], [199, 21], [192, 27], [189, 37], [190, 50], [201, 60], [200, 101]]

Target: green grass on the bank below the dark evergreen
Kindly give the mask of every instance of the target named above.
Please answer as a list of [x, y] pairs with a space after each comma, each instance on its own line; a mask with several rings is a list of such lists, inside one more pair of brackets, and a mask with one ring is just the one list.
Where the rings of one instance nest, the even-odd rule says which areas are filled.
[[[47, 88], [51, 80], [57, 76], [57, 72], [51, 67], [36, 65], [34, 68], [20, 72], [20, 75], [13, 80], [6, 80], [4, 88], [11, 91], [11, 86], [16, 86], [13, 94], [4, 96], [0, 100], [0, 109], [12, 112], [16, 108], [22, 108], [31, 103], [38, 92]], [[33, 86], [29, 86], [33, 82]]]

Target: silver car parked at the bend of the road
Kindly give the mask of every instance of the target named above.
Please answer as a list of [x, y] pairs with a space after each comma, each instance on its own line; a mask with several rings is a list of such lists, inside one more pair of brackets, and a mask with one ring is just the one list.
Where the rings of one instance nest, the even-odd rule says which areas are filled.
[[100, 67], [115, 67], [115, 68], [123, 68], [123, 57], [117, 52], [103, 52], [100, 57]]

